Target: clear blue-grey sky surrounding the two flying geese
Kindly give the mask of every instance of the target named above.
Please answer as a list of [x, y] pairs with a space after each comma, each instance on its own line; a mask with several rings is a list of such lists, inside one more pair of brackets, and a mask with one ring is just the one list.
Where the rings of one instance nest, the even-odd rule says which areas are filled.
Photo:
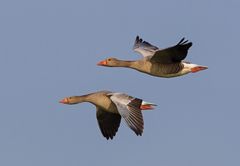
[[[0, 1], [0, 165], [240, 165], [237, 0]], [[136, 35], [161, 47], [193, 42], [208, 70], [164, 79], [104, 68], [133, 60]], [[158, 104], [137, 137], [125, 123], [102, 137], [95, 107], [66, 96], [127, 92]], [[123, 121], [122, 121], [123, 122]]]

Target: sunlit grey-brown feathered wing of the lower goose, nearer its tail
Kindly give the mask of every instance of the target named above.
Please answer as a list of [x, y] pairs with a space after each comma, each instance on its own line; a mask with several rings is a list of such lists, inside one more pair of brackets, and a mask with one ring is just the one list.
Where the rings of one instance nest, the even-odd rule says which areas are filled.
[[111, 93], [110, 99], [116, 104], [119, 114], [125, 119], [127, 125], [136, 135], [142, 135], [144, 125], [140, 109], [142, 100], [124, 93]]

